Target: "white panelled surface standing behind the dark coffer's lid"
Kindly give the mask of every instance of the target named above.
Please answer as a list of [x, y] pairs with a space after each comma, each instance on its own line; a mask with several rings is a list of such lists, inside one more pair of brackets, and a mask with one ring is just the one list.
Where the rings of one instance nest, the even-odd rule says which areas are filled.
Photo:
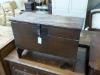
[[88, 0], [52, 0], [52, 14], [85, 18], [87, 3]]

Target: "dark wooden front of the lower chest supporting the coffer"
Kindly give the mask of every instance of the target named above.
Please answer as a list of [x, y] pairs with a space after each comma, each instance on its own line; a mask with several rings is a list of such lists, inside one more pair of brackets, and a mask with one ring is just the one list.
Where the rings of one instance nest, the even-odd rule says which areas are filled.
[[57, 75], [33, 67], [28, 67], [26, 65], [21, 65], [12, 62], [10, 62], [10, 69], [12, 75]]

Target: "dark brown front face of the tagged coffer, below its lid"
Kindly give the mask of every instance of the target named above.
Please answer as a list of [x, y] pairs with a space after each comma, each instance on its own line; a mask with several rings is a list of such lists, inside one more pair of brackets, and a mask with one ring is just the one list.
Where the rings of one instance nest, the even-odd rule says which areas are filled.
[[[80, 29], [68, 29], [24, 22], [12, 22], [15, 43], [19, 50], [31, 50], [64, 57], [73, 63], [77, 56]], [[39, 31], [40, 30], [40, 31]], [[38, 44], [38, 37], [42, 44]], [[18, 50], [21, 57], [22, 51]], [[20, 53], [21, 52], [21, 53]], [[73, 63], [75, 64], [75, 62]]]

